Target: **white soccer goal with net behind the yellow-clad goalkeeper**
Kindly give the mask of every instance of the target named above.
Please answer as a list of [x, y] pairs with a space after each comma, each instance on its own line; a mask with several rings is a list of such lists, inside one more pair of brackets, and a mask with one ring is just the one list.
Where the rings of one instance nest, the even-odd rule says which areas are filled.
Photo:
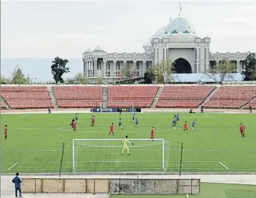
[[129, 139], [129, 153], [121, 155], [123, 139], [73, 139], [73, 172], [166, 171], [172, 143], [165, 139]]

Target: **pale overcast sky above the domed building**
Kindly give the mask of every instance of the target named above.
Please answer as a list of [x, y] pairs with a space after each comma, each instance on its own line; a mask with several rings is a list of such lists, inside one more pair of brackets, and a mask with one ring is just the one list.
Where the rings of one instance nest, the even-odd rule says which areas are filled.
[[[211, 38], [210, 52], [256, 52], [256, 1], [181, 5], [197, 35]], [[142, 53], [177, 16], [179, 1], [1, 1], [1, 59], [81, 59], [97, 45], [108, 53]]]

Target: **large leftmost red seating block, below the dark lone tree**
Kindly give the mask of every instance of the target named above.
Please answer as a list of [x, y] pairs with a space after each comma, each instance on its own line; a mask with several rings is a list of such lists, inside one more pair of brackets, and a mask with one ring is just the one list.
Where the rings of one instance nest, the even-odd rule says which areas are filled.
[[53, 107], [47, 87], [2, 86], [1, 97], [12, 109]]

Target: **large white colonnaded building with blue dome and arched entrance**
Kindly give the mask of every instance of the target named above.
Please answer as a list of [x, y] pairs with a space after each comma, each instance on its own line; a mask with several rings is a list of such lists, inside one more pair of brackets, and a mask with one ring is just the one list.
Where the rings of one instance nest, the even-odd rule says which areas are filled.
[[185, 18], [175, 18], [143, 45], [144, 53], [107, 53], [100, 46], [82, 54], [84, 76], [91, 81], [102, 77], [105, 82], [119, 80], [123, 66], [144, 76], [152, 64], [172, 59], [177, 74], [204, 73], [219, 61], [236, 62], [237, 73], [245, 69], [247, 53], [210, 53], [210, 37], [201, 38]]

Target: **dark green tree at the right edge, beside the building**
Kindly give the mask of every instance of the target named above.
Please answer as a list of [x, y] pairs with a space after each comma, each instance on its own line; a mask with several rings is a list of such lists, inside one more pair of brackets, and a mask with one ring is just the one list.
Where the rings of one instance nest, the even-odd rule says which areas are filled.
[[245, 72], [243, 80], [256, 80], [256, 56], [250, 53], [245, 59]]

